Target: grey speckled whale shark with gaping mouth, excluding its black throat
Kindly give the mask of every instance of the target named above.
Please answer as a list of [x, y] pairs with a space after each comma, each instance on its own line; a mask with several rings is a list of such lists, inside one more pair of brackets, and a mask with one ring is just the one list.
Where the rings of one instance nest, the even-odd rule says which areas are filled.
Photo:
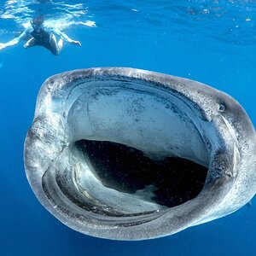
[[[104, 181], [86, 149], [99, 142], [135, 148], [150, 160], [189, 160], [206, 168], [207, 176], [192, 198], [166, 206], [153, 200], [154, 184], [129, 193]], [[102, 155], [111, 149], [103, 143]], [[62, 223], [90, 236], [143, 240], [244, 206], [256, 191], [255, 153], [247, 113], [224, 92], [161, 73], [98, 67], [44, 82], [24, 160], [38, 200]], [[182, 169], [174, 178], [186, 175]]]

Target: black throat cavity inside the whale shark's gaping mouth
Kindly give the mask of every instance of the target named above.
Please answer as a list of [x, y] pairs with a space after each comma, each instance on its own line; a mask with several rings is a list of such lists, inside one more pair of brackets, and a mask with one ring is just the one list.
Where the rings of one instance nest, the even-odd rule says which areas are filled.
[[134, 194], [151, 186], [154, 188], [151, 200], [165, 207], [194, 199], [207, 177], [207, 168], [191, 160], [179, 157], [151, 160], [137, 148], [120, 143], [79, 140], [75, 147], [90, 160], [105, 187]]

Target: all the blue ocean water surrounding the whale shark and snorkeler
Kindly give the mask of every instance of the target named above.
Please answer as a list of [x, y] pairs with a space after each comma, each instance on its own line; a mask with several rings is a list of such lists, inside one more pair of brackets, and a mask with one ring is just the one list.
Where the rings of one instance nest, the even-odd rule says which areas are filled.
[[55, 56], [25, 42], [0, 51], [0, 255], [256, 255], [256, 201], [225, 218], [150, 241], [84, 236], [33, 195], [23, 143], [38, 90], [50, 75], [86, 67], [137, 67], [224, 90], [256, 125], [256, 3], [253, 0], [4, 1], [0, 42], [32, 17], [79, 40]]

